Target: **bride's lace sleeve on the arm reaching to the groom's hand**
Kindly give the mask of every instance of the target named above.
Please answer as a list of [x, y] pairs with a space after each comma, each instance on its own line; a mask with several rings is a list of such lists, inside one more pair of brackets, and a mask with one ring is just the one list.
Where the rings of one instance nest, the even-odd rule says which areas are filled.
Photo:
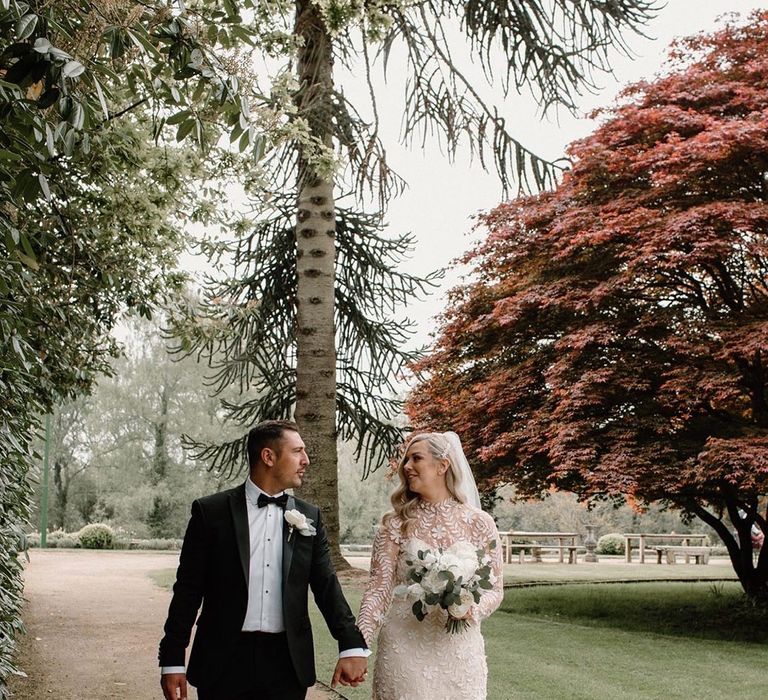
[[370, 647], [384, 620], [397, 573], [397, 555], [400, 549], [399, 520], [392, 518], [379, 527], [373, 540], [371, 552], [371, 574], [365, 587], [357, 626]]

